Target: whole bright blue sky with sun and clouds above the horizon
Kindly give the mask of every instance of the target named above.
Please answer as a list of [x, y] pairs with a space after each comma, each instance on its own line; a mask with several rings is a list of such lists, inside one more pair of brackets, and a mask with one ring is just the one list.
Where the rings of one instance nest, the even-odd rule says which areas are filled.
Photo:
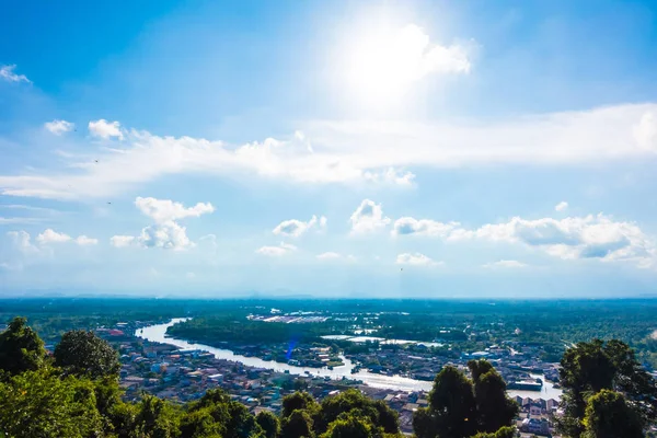
[[657, 5], [14, 2], [0, 293], [657, 292]]

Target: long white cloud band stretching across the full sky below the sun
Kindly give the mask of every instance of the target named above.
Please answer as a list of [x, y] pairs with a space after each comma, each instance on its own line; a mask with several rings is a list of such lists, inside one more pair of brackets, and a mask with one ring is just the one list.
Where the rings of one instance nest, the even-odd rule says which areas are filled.
[[[400, 169], [615, 163], [655, 157], [655, 114], [657, 104], [637, 104], [493, 122], [308, 122], [303, 141], [290, 136], [242, 146], [117, 130], [114, 134], [126, 141], [120, 149], [99, 152], [97, 163], [89, 163], [88, 154], [71, 153], [59, 171], [0, 175], [0, 193], [106, 197], [180, 173], [257, 175], [300, 184], [408, 185], [412, 174]], [[313, 139], [312, 150], [308, 138]]]

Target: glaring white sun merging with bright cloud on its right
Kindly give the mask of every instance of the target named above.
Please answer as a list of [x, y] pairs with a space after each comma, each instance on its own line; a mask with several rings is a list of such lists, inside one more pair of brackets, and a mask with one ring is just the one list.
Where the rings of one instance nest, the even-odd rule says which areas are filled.
[[466, 50], [459, 45], [430, 45], [422, 27], [371, 30], [346, 48], [345, 74], [349, 90], [373, 104], [401, 99], [430, 73], [469, 72]]

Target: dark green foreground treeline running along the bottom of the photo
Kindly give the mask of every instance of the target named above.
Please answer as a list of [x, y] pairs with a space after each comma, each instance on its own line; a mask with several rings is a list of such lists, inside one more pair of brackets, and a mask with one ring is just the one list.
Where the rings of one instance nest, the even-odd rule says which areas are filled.
[[[576, 438], [638, 438], [657, 417], [657, 385], [620, 341], [580, 343], [562, 359], [560, 430]], [[510, 438], [518, 406], [485, 360], [471, 378], [445, 367], [413, 418], [417, 438]], [[221, 390], [172, 404], [145, 394], [122, 401], [117, 353], [91, 332], [61, 337], [53, 357], [26, 325], [0, 333], [0, 436], [30, 438], [396, 438], [395, 412], [357, 390], [318, 403], [304, 392], [283, 401], [280, 416], [254, 416]]]

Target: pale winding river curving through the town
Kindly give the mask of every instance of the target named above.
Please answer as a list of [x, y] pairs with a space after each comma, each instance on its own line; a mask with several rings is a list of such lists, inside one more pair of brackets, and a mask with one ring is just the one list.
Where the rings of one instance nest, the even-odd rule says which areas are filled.
[[[280, 364], [273, 360], [263, 360], [257, 357], [246, 357], [241, 355], [235, 355], [233, 351], [229, 349], [216, 348], [209, 345], [204, 344], [192, 344], [187, 341], [176, 339], [174, 337], [166, 336], [166, 328], [176, 324], [181, 321], [187, 320], [186, 318], [175, 318], [171, 320], [171, 322], [166, 324], [155, 324], [149, 325], [143, 328], [138, 328], [135, 332], [135, 336], [141, 337], [143, 339], [169, 344], [176, 346], [182, 349], [198, 349], [203, 351], [208, 351], [215, 355], [218, 359], [232, 360], [237, 362], [241, 362], [249, 367], [255, 368], [265, 368], [270, 369], [278, 372], [288, 371], [290, 374], [296, 376], [306, 376], [308, 373], [312, 376], [321, 376], [321, 377], [330, 377], [331, 379], [342, 379], [346, 377], [348, 379], [361, 380], [364, 383], [373, 387], [373, 388], [385, 388], [393, 389], [400, 391], [429, 391], [431, 389], [433, 382], [426, 382], [423, 380], [410, 379], [401, 376], [383, 376], [374, 372], [369, 372], [367, 370], [360, 370], [357, 373], [351, 373], [351, 369], [354, 365], [349, 359], [344, 356], [341, 356], [342, 360], [345, 362], [342, 367], [334, 367], [332, 370], [328, 368], [310, 368], [310, 367], [296, 367], [292, 365]], [[308, 371], [308, 372], [307, 372]], [[534, 376], [532, 377], [541, 377]], [[539, 391], [508, 391], [509, 395], [520, 395], [522, 397], [529, 396], [532, 399], [543, 397], [548, 399], [556, 399], [561, 397], [561, 390], [552, 388], [552, 383], [545, 382], [543, 384], [543, 390]]]

